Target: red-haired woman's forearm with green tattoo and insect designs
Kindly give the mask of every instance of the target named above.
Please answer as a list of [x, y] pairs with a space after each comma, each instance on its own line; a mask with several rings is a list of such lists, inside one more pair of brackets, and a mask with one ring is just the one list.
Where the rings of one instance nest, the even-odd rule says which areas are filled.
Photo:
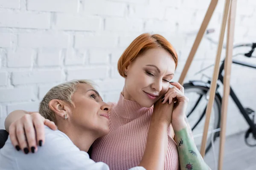
[[207, 170], [209, 167], [202, 159], [187, 128], [175, 132], [180, 169], [181, 170]]

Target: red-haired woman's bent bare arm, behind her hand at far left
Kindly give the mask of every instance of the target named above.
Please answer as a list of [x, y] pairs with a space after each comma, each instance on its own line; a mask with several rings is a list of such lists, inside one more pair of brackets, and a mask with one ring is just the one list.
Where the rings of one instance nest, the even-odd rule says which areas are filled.
[[25, 114], [32, 114], [34, 112], [27, 112], [23, 110], [17, 110], [11, 112], [5, 119], [4, 126], [6, 128], [6, 131], [9, 132], [9, 127], [12, 124], [12, 122], [15, 122], [16, 120], [20, 119]]

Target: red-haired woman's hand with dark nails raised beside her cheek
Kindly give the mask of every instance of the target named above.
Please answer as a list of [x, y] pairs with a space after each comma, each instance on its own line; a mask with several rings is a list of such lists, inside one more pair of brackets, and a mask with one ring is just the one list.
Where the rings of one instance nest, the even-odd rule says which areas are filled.
[[171, 82], [170, 84], [173, 85], [173, 87], [168, 89], [162, 103], [168, 102], [172, 104], [172, 102], [175, 102], [172, 111], [172, 124], [180, 124], [180, 121], [182, 121], [182, 123], [185, 121], [185, 113], [189, 99], [184, 95], [184, 88], [180, 83]]

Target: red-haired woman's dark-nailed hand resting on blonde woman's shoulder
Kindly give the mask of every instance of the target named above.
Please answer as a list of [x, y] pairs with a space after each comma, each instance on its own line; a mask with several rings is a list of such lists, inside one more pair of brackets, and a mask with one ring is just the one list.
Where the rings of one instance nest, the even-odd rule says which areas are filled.
[[9, 135], [12, 145], [17, 149], [20, 148], [24, 153], [36, 152], [37, 144], [44, 144], [44, 125], [52, 130], [57, 130], [54, 122], [45, 119], [39, 113], [26, 114], [9, 127]]

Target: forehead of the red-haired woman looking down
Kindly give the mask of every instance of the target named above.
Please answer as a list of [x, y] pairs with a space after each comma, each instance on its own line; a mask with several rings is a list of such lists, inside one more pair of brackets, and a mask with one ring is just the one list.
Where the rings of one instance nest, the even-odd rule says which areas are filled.
[[160, 70], [175, 71], [175, 61], [172, 55], [163, 48], [151, 48], [139, 56], [135, 62], [137, 66], [156, 65]]

